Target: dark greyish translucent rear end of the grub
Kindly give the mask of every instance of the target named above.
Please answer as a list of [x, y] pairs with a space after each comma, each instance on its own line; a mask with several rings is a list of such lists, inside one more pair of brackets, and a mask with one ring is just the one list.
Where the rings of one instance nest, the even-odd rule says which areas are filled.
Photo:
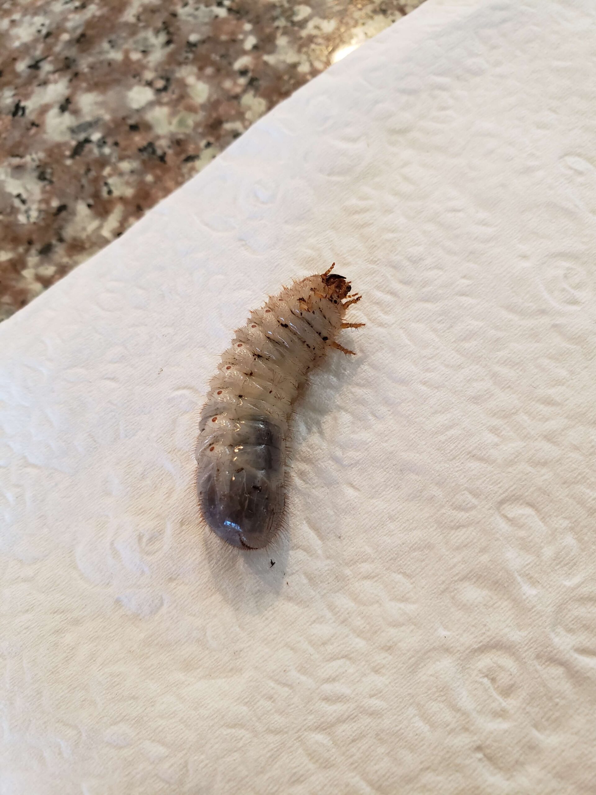
[[261, 549], [284, 510], [284, 436], [266, 417], [234, 421], [228, 444], [199, 454], [197, 491], [203, 517], [223, 541]]

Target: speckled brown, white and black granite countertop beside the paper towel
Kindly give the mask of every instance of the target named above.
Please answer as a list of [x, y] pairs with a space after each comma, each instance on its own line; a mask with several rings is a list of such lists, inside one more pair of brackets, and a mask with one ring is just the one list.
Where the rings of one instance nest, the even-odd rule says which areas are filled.
[[423, 0], [5, 0], [0, 320]]

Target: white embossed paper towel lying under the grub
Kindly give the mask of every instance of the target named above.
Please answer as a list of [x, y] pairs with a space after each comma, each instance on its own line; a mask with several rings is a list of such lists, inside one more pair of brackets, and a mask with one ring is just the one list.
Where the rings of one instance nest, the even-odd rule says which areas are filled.
[[[595, 213], [594, 3], [428, 0], [2, 324], [2, 795], [596, 792]], [[238, 555], [204, 386], [333, 260]]]

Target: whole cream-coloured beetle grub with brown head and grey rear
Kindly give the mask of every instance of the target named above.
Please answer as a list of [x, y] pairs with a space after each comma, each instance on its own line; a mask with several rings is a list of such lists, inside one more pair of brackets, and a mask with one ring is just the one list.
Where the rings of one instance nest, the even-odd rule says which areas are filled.
[[211, 379], [196, 445], [199, 506], [238, 549], [262, 549], [280, 529], [288, 424], [309, 371], [329, 347], [354, 355], [335, 337], [364, 325], [343, 320], [361, 296], [334, 266], [250, 312]]

